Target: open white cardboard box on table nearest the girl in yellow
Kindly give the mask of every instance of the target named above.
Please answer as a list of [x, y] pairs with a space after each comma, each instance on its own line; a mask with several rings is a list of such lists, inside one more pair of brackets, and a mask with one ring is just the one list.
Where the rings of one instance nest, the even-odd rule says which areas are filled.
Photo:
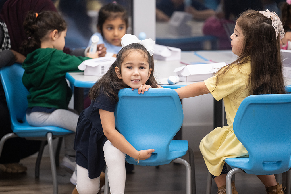
[[184, 65], [174, 70], [179, 76], [180, 81], [204, 81], [213, 76], [221, 67], [226, 66], [226, 63], [205, 63], [197, 65]]

